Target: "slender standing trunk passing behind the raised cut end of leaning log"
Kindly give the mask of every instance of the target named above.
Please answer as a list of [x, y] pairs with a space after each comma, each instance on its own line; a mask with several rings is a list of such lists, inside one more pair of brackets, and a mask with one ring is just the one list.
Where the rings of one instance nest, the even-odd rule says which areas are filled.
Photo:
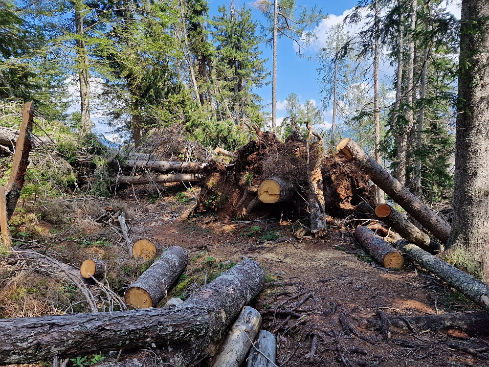
[[[378, 64], [380, 59], [378, 40], [378, 0], [375, 1], [375, 45], [374, 45], [374, 115], [375, 115], [375, 160], [382, 166], [380, 156], [380, 116], [378, 111]], [[385, 203], [384, 192], [376, 186], [377, 204]]]

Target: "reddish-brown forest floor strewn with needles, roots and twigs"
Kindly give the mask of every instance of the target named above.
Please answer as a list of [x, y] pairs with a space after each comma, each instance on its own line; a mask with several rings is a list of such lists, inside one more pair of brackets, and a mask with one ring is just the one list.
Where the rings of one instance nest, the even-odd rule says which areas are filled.
[[[273, 331], [279, 326], [275, 333], [278, 366], [347, 366], [348, 363], [353, 363], [351, 366], [385, 367], [489, 365], [487, 360], [449, 347], [458, 344], [487, 349], [487, 336], [467, 335], [459, 330], [423, 330], [414, 334], [407, 329], [392, 328], [392, 338], [385, 341], [379, 331], [369, 327], [368, 321], [376, 320], [378, 309], [390, 317], [480, 309], [434, 276], [423, 272], [418, 265], [406, 261], [400, 271], [384, 269], [363, 252], [347, 230], [333, 228], [324, 238], [298, 240], [293, 237], [293, 232], [299, 228], [299, 221], [288, 218], [253, 222], [233, 221], [219, 215], [187, 218], [195, 203], [196, 192], [179, 193], [176, 189], [178, 187], [168, 188], [157, 200], [150, 199], [143, 191], [126, 190], [118, 195], [121, 205], [132, 213], [128, 215], [128, 222], [133, 239], [148, 238], [160, 251], [172, 245], [189, 251], [191, 260], [186, 273], [168, 297], [185, 297], [204, 279], [211, 281], [243, 256], [258, 261], [266, 271], [268, 284], [252, 306], [262, 313], [262, 328]], [[44, 227], [50, 226], [41, 222]], [[289, 240], [274, 243], [279, 237], [289, 237]], [[113, 259], [124, 252], [115, 249], [114, 245], [107, 245], [110, 235], [98, 240], [100, 242], [96, 242], [92, 235], [85, 241], [92, 245], [82, 249], [81, 238], [76, 241], [73, 241], [74, 236], [67, 238], [57, 242], [52, 251], [58, 251], [65, 262], [75, 266], [89, 256]], [[141, 271], [141, 264], [136, 265]], [[127, 264], [124, 266], [127, 268]], [[126, 271], [126, 274], [131, 272]], [[113, 277], [108, 280], [117, 283], [111, 284], [113, 289], [120, 290], [135, 277], [137, 274], [128, 275], [118, 283]], [[0, 289], [0, 298], [2, 294], [5, 297], [5, 287], [3, 291]], [[298, 305], [305, 296], [310, 297]], [[282, 324], [287, 315], [275, 313], [276, 309], [298, 315]], [[6, 315], [0, 307], [1, 311], [4, 315], [0, 317], [16, 316]], [[363, 339], [345, 333], [339, 320], [343, 316]], [[314, 334], [320, 335], [317, 336], [318, 347], [316, 355], [309, 358], [307, 354], [311, 352]], [[201, 365], [205, 366], [205, 362]]]

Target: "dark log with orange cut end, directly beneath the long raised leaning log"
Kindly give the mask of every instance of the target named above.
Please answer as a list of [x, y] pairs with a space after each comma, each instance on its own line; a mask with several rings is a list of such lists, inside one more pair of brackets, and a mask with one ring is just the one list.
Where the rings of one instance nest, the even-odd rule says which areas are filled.
[[375, 207], [375, 215], [385, 224], [396, 231], [409, 242], [421, 247], [428, 252], [440, 251], [440, 243], [428, 236], [421, 229], [409, 222], [400, 212], [388, 204], [379, 204]]

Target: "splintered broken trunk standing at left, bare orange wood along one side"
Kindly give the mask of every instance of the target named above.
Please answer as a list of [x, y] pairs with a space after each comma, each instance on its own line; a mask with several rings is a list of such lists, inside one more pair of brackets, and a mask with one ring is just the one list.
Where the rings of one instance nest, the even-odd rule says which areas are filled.
[[29, 153], [32, 148], [32, 123], [34, 122], [34, 105], [27, 102], [22, 112], [22, 125], [19, 132], [19, 138], [15, 144], [14, 161], [12, 163], [12, 172], [5, 189], [7, 220], [12, 217], [17, 201], [21, 196], [22, 186], [24, 185], [25, 173], [29, 165]]

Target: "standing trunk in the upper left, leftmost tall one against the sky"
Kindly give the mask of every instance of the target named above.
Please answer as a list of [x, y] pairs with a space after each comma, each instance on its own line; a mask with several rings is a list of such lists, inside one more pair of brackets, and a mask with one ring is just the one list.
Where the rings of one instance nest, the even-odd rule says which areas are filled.
[[83, 7], [79, 2], [74, 2], [75, 8], [75, 32], [76, 32], [76, 56], [78, 62], [78, 80], [80, 84], [81, 104], [81, 133], [91, 134], [90, 121], [90, 73], [87, 48], [85, 47], [85, 30], [83, 27]]

